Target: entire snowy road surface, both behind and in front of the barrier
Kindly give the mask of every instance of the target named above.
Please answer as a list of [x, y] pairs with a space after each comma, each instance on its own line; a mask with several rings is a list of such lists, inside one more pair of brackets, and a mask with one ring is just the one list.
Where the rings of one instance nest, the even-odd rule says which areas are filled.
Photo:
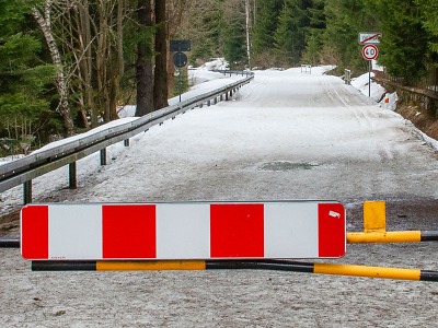
[[[332, 199], [361, 231], [364, 200], [389, 230], [437, 230], [438, 155], [411, 124], [316, 69], [258, 71], [230, 102], [153, 127], [129, 148], [34, 181], [41, 201]], [[48, 183], [48, 181], [49, 183]], [[20, 188], [0, 195], [13, 208]], [[436, 243], [348, 245], [337, 262], [438, 269]], [[434, 327], [438, 284], [306, 273], [31, 272], [0, 249], [4, 327]]]

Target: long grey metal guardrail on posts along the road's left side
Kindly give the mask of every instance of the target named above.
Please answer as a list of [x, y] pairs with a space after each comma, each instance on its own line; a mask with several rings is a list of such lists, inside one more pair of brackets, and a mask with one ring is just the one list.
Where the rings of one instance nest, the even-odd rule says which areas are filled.
[[[241, 71], [238, 73], [242, 74]], [[223, 96], [228, 99], [235, 90], [254, 79], [254, 73], [244, 72], [243, 74], [246, 74], [246, 77], [242, 80], [155, 110], [131, 122], [101, 130], [84, 138], [73, 137], [71, 142], [68, 142], [67, 139], [59, 147], [35, 152], [23, 159], [0, 165], [0, 192], [23, 184], [24, 203], [28, 203], [32, 201], [32, 179], [68, 164], [70, 165], [70, 188], [76, 188], [76, 162], [78, 160], [101, 151], [101, 164], [104, 165], [106, 161], [104, 159], [105, 150], [108, 145], [119, 141], [125, 141], [125, 145], [128, 145], [129, 138], [147, 131], [150, 127], [162, 124], [169, 118], [174, 118], [176, 115], [195, 107], [203, 107], [206, 103], [209, 106], [211, 101], [216, 104], [218, 97], [219, 101], [222, 101]]]

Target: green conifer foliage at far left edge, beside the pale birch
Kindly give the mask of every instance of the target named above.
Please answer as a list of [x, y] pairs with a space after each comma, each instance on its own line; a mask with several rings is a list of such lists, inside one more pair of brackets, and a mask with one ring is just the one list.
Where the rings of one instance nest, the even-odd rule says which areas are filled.
[[39, 57], [43, 43], [28, 13], [33, 1], [0, 0], [0, 137], [26, 138], [49, 116], [46, 93], [55, 68]]

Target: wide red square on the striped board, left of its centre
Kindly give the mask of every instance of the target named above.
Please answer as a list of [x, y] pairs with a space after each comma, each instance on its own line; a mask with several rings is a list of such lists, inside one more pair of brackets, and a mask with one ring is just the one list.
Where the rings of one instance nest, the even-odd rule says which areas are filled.
[[153, 204], [102, 207], [103, 258], [157, 258]]

